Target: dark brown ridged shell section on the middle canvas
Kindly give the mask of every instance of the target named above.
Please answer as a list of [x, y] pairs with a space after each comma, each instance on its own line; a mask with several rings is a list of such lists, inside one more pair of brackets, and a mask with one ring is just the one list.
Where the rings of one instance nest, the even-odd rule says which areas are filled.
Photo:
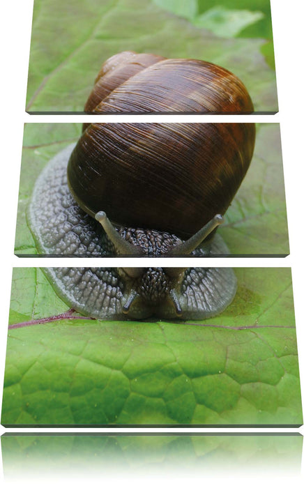
[[68, 163], [90, 215], [126, 227], [195, 234], [225, 213], [250, 165], [252, 123], [91, 123]]

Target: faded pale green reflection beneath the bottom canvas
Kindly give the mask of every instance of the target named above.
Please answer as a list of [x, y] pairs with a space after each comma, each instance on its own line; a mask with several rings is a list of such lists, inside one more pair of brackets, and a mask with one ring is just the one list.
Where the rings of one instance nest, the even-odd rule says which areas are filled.
[[[156, 475], [202, 480], [204, 475], [296, 476], [300, 434], [4, 434], [6, 481], [45, 477], [137, 478]], [[27, 486], [27, 485], [26, 485]]]

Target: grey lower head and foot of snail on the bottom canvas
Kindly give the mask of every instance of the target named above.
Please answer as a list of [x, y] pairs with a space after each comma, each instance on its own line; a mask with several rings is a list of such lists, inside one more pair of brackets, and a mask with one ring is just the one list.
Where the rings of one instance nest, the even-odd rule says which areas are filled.
[[70, 307], [96, 319], [198, 320], [220, 314], [236, 293], [231, 268], [45, 268]]

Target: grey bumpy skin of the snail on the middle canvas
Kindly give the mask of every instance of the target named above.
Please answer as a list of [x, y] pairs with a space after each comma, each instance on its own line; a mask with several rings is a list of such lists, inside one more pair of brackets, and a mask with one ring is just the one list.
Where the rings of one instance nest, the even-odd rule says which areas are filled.
[[[115, 256], [114, 245], [100, 224], [80, 208], [68, 188], [66, 168], [74, 145], [58, 153], [38, 176], [27, 220], [38, 252], [47, 256]], [[144, 255], [161, 256], [183, 240], [169, 232], [116, 227]], [[194, 256], [227, 255], [218, 234], [192, 252]]]

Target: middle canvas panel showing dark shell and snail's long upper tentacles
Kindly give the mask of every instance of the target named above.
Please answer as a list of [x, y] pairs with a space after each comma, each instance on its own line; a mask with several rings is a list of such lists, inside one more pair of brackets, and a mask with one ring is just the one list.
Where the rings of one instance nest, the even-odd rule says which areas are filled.
[[278, 123], [29, 123], [17, 256], [289, 254]]

